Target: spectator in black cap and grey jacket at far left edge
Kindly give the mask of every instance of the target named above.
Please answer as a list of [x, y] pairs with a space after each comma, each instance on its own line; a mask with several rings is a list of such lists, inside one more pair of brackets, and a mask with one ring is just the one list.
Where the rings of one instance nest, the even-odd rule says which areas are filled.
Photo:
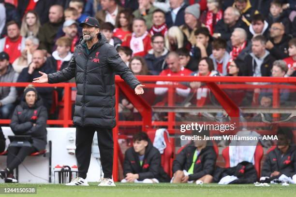
[[[0, 82], [14, 83], [18, 74], [9, 63], [9, 56], [5, 52], [0, 53]], [[16, 100], [16, 90], [13, 86], [0, 87], [0, 118], [9, 119], [14, 110]]]

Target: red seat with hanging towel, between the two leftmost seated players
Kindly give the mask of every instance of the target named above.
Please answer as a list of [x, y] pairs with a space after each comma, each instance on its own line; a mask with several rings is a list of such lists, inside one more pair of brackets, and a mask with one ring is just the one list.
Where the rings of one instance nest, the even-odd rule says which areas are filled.
[[[149, 139], [151, 140], [151, 142], [153, 143], [154, 141], [154, 137], [155, 137], [155, 129], [154, 130], [149, 130], [147, 132]], [[164, 171], [170, 175], [171, 174], [171, 158], [173, 156], [173, 147], [171, 145], [171, 142], [169, 140], [169, 138], [167, 137], [167, 135], [164, 135], [164, 141], [166, 143], [166, 148], [163, 151], [162, 154], [162, 166]]]

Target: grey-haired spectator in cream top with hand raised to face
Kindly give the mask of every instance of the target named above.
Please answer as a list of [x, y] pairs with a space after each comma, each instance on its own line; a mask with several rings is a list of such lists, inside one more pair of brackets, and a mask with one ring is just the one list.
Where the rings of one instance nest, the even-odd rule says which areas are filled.
[[24, 68], [27, 68], [32, 61], [32, 54], [39, 47], [39, 40], [33, 36], [29, 36], [25, 41], [25, 49], [21, 56], [17, 57], [12, 64], [15, 72], [20, 73]]

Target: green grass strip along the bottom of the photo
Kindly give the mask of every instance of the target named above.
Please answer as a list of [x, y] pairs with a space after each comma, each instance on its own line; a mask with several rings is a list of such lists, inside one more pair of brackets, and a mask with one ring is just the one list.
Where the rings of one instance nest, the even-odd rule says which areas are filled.
[[296, 197], [296, 185], [255, 187], [253, 184], [135, 184], [116, 183], [116, 187], [65, 186], [62, 184], [0, 184], [0, 187], [36, 187], [37, 195], [0, 195], [6, 197]]

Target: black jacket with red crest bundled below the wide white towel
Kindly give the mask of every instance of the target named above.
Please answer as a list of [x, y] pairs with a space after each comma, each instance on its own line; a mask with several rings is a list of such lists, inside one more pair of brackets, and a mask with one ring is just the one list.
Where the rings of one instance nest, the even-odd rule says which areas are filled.
[[247, 161], [243, 161], [232, 168], [220, 168], [214, 172], [213, 182], [218, 183], [225, 176], [236, 176], [238, 179], [230, 182], [229, 184], [247, 184], [257, 181], [257, 171], [253, 164]]

